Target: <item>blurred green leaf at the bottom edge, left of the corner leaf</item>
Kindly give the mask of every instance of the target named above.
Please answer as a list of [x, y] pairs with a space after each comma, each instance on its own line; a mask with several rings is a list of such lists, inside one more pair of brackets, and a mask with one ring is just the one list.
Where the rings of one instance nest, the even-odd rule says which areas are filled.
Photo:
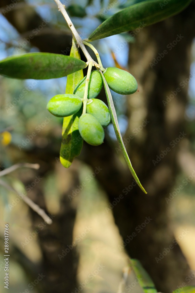
[[151, 277], [144, 270], [141, 263], [137, 259], [130, 260], [130, 267], [133, 269], [137, 279], [139, 280], [139, 285], [143, 288], [145, 293], [156, 293], [158, 292]]

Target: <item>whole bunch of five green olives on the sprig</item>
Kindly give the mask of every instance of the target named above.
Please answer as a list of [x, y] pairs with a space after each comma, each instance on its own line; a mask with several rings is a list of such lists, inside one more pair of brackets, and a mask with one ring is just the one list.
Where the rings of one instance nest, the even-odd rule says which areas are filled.
[[[129, 95], [137, 91], [136, 79], [127, 71], [108, 67], [103, 75], [111, 88], [116, 93]], [[77, 113], [82, 107], [84, 98], [86, 76], [77, 84], [73, 94], [57, 95], [47, 104], [49, 112], [57, 117], [67, 117]], [[102, 144], [104, 129], [110, 123], [111, 116], [106, 104], [96, 97], [103, 86], [99, 71], [92, 71], [89, 79], [86, 113], [79, 118], [79, 132], [81, 137], [91, 145]]]

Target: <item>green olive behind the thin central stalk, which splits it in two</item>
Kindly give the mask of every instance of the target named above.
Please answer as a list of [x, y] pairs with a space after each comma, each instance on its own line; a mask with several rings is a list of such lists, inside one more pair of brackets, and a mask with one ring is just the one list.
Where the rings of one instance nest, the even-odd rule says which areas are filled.
[[[84, 97], [85, 81], [86, 81], [86, 76], [79, 82], [79, 84], [77, 84], [74, 90], [74, 93], [80, 98]], [[88, 99], [96, 98], [99, 95], [102, 86], [103, 86], [103, 82], [102, 82], [101, 74], [97, 70], [92, 71], [89, 78], [87, 98]]]

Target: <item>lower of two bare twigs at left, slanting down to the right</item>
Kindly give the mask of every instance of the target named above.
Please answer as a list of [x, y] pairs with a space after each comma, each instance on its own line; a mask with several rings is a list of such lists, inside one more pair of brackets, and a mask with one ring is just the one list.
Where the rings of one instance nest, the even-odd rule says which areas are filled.
[[[16, 191], [11, 185], [7, 184], [5, 181], [1, 179], [0, 179], [0, 184], [4, 186], [6, 189], [16, 193], [21, 198], [20, 193], [18, 193], [18, 191]], [[39, 214], [39, 216], [41, 216], [47, 224], [49, 225], [52, 224], [51, 218], [45, 213], [43, 209], [41, 209], [37, 204], [35, 204], [29, 197], [23, 196], [22, 199], [29, 207], [31, 207], [31, 209], [33, 209], [37, 214]]]

